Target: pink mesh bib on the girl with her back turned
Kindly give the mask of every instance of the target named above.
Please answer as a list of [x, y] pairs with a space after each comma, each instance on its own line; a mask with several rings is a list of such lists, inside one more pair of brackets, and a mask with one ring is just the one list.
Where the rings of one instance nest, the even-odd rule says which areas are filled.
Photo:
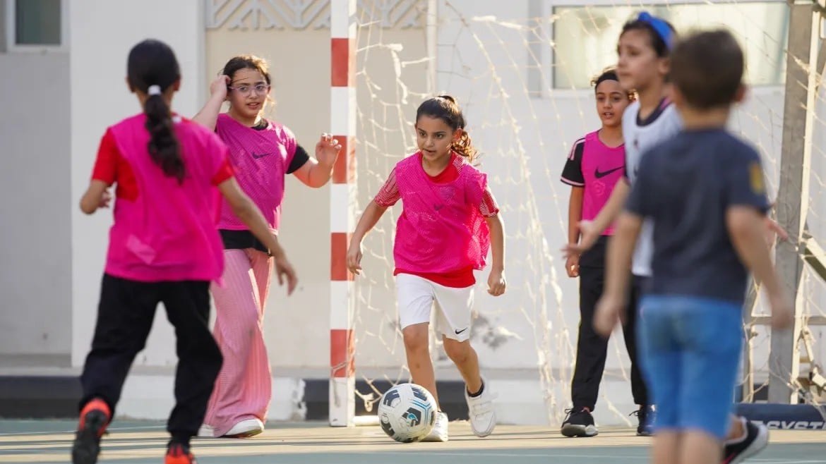
[[216, 280], [224, 269], [224, 247], [215, 227], [213, 179], [225, 168], [226, 147], [201, 125], [177, 122], [186, 169], [179, 184], [150, 158], [145, 122], [140, 114], [109, 129], [140, 193], [134, 201], [115, 202], [106, 272], [139, 282]]

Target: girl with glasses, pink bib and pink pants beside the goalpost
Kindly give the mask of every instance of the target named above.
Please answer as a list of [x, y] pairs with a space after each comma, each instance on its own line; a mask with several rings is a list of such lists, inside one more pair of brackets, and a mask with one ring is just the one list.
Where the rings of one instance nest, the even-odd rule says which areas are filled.
[[[316, 159], [287, 127], [263, 118], [270, 75], [263, 59], [236, 56], [211, 84], [211, 98], [193, 119], [215, 130], [230, 148], [230, 163], [244, 192], [263, 211], [270, 234], [278, 234], [284, 182], [294, 174], [310, 187], [329, 180], [341, 146], [330, 135], [316, 144]], [[223, 102], [230, 109], [221, 113]], [[225, 286], [211, 288], [216, 305], [214, 334], [224, 366], [216, 381], [202, 437], [251, 437], [263, 432], [272, 397], [264, 345], [263, 310], [273, 259], [224, 201], [218, 229], [224, 244]]]

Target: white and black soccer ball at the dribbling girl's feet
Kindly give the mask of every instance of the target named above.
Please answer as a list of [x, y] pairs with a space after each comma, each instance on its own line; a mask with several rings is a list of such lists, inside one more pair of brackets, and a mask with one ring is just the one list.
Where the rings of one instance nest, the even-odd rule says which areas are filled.
[[430, 391], [401, 383], [385, 391], [378, 403], [378, 419], [387, 436], [401, 443], [425, 438], [436, 421], [436, 400]]

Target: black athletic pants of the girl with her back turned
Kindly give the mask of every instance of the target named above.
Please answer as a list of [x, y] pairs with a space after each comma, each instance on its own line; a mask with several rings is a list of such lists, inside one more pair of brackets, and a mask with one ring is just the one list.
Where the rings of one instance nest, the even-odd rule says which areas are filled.
[[104, 274], [92, 351], [80, 377], [80, 408], [101, 398], [115, 414], [126, 373], [146, 344], [158, 303], [164, 303], [177, 339], [176, 404], [168, 430], [173, 438], [188, 441], [207, 414], [223, 362], [208, 325], [209, 282], [135, 282]]

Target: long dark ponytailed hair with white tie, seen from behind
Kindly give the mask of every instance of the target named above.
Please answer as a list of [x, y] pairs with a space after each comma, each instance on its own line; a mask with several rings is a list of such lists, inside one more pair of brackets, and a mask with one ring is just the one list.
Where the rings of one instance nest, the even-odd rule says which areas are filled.
[[[144, 113], [146, 130], [150, 131], [150, 156], [164, 174], [183, 182], [185, 168], [180, 144], [173, 131], [172, 113], [163, 93], [181, 78], [178, 59], [169, 45], [159, 40], [144, 40], [132, 47], [126, 71], [132, 90], [146, 93]], [[157, 86], [154, 89], [153, 86]], [[159, 92], [151, 92], [159, 90]]]

